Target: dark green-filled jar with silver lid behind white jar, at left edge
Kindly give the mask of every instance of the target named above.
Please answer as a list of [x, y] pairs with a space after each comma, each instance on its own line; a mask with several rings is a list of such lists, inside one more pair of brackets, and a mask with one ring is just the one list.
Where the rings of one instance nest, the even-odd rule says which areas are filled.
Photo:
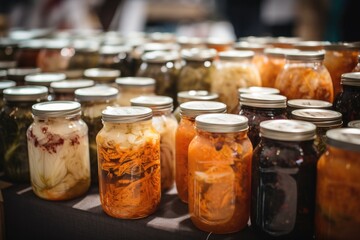
[[[5, 176], [13, 182], [30, 182], [26, 130], [32, 123], [31, 106], [45, 101], [48, 89], [41, 86], [7, 88], [0, 115], [1, 155]], [[0, 164], [1, 165], [1, 164]]]

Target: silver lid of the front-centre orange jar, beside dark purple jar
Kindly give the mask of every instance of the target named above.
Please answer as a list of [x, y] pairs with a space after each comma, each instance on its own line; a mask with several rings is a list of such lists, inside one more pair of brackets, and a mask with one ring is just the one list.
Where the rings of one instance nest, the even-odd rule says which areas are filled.
[[197, 129], [213, 133], [240, 132], [248, 129], [248, 119], [237, 114], [211, 113], [195, 118]]

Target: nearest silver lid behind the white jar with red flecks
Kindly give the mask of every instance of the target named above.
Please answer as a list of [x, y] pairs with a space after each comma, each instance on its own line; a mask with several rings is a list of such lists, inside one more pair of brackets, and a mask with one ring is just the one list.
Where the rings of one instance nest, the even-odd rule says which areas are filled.
[[76, 89], [94, 86], [93, 80], [74, 79], [52, 82], [50, 87], [55, 93], [73, 93]]

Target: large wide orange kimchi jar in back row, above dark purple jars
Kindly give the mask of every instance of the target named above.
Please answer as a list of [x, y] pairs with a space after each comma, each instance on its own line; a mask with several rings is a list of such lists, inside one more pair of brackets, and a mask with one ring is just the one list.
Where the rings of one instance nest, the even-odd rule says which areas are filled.
[[294, 52], [285, 55], [286, 63], [274, 87], [288, 99], [334, 100], [329, 71], [323, 64], [324, 52]]

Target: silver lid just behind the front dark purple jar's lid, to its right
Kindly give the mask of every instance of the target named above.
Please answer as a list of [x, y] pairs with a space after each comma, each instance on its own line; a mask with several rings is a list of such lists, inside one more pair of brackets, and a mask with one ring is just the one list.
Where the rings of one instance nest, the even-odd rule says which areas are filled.
[[291, 112], [296, 120], [303, 120], [315, 124], [317, 127], [341, 127], [342, 114], [325, 109], [297, 109]]

